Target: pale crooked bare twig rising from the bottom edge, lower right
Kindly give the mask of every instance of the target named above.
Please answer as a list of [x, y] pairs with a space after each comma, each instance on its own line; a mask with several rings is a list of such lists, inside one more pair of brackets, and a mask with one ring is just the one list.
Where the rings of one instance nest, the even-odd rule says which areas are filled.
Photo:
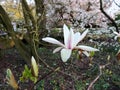
[[106, 66], [108, 66], [110, 63], [106, 64], [106, 65], [100, 65], [99, 66], [99, 75], [90, 83], [90, 85], [88, 86], [87, 90], [92, 90], [92, 86], [93, 84], [100, 78], [100, 76], [102, 75], [102, 69], [104, 69]]

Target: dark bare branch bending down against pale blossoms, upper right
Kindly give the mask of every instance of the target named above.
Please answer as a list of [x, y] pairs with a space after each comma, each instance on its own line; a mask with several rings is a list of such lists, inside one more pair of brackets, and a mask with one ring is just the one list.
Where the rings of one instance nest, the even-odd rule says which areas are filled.
[[113, 25], [114, 25], [115, 28], [116, 28], [116, 32], [119, 33], [117, 24], [115, 23], [115, 21], [113, 20], [113, 18], [111, 18], [111, 17], [104, 11], [102, 5], [103, 5], [102, 0], [100, 0], [100, 10], [101, 10], [101, 12], [113, 23]]

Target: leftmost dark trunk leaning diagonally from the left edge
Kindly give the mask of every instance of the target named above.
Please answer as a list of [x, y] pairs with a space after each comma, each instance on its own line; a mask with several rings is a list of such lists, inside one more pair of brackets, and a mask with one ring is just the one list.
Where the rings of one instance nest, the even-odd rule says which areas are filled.
[[5, 12], [1, 5], [0, 5], [0, 19], [2, 21], [3, 26], [8, 31], [8, 35], [12, 37], [15, 43], [15, 47], [22, 55], [22, 57], [25, 59], [25, 61], [28, 64], [30, 64], [31, 55], [29, 53], [30, 52], [29, 48], [18, 37], [16, 37], [16, 33], [14, 32], [10, 18], [8, 17], [8, 14]]

